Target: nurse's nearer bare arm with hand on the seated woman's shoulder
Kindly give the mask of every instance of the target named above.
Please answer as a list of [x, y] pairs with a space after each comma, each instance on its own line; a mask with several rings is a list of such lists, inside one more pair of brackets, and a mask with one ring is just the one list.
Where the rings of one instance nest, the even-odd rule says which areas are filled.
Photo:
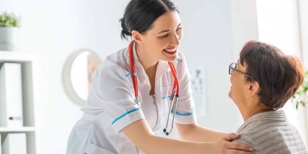
[[189, 142], [156, 136], [145, 119], [122, 129], [124, 134], [145, 153], [233, 153], [251, 154], [248, 145], [229, 142], [239, 136], [229, 134], [215, 142]]

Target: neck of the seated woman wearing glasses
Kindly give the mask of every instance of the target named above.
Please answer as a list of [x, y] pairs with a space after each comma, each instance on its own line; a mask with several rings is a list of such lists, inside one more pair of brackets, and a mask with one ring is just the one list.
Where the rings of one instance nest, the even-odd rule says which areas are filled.
[[252, 117], [253, 115], [256, 115], [258, 113], [274, 111], [272, 108], [267, 107], [261, 102], [247, 101], [246, 103], [243, 103], [243, 104], [249, 104], [245, 107], [239, 107], [241, 115], [243, 116], [244, 122], [248, 120], [250, 117]]

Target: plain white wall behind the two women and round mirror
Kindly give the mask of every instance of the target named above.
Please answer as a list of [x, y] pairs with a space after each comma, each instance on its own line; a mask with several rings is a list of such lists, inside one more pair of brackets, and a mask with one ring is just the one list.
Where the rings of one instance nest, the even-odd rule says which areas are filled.
[[[180, 51], [189, 67], [202, 65], [207, 69], [208, 116], [198, 118], [198, 124], [236, 132], [243, 120], [228, 97], [231, 86], [228, 66], [237, 60], [246, 40], [258, 38], [255, 1], [174, 1], [180, 9], [184, 30]], [[80, 106], [63, 88], [62, 69], [67, 56], [80, 48], [90, 48], [106, 57], [128, 45], [120, 40], [118, 22], [127, 2], [0, 1], [0, 11], [22, 15], [21, 52], [34, 52], [40, 57], [42, 115], [38, 116], [42, 119], [43, 139], [39, 143], [40, 153], [64, 152], [71, 129], [82, 115]], [[250, 18], [255, 20], [246, 21]]]

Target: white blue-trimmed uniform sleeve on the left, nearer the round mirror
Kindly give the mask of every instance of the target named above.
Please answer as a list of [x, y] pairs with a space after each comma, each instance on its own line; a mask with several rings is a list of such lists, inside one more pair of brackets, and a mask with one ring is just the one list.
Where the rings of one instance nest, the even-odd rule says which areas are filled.
[[132, 78], [124, 69], [109, 66], [98, 70], [95, 92], [116, 133], [120, 133], [129, 124], [144, 119], [141, 108], [134, 102]]

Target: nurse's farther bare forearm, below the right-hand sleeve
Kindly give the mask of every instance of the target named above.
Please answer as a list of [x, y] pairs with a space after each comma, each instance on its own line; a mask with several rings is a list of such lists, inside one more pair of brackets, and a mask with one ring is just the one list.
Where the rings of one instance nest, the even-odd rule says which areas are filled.
[[214, 142], [228, 133], [217, 132], [199, 126], [198, 124], [181, 125], [176, 124], [178, 135], [182, 140], [193, 142]]

